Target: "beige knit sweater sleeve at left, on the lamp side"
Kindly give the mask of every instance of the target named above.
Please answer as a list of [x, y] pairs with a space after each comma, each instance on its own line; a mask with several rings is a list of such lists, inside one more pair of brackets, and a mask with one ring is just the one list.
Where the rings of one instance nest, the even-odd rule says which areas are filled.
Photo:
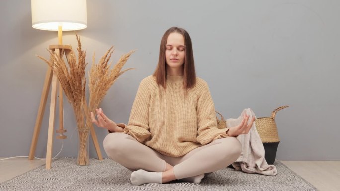
[[141, 81], [135, 101], [133, 102], [129, 123], [120, 124], [123, 132], [143, 143], [151, 135], [149, 131], [150, 78]]

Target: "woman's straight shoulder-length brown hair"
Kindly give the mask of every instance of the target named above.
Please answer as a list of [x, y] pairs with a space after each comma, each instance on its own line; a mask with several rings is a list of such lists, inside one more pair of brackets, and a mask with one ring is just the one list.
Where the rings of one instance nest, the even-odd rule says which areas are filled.
[[154, 72], [154, 76], [156, 77], [156, 82], [166, 88], [166, 81], [167, 81], [167, 63], [165, 58], [165, 51], [167, 46], [168, 36], [171, 33], [179, 33], [184, 37], [184, 45], [185, 45], [185, 59], [184, 59], [184, 88], [187, 90], [188, 88], [193, 87], [196, 84], [196, 72], [195, 72], [195, 64], [193, 58], [193, 51], [192, 51], [192, 43], [189, 33], [186, 30], [179, 28], [179, 27], [171, 27], [168, 29], [161, 40], [160, 45], [160, 56], [158, 59], [157, 68]]

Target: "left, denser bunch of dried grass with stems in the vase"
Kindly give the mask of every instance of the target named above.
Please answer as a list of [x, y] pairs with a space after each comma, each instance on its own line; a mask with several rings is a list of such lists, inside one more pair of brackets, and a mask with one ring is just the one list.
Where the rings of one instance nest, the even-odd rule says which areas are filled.
[[[64, 90], [64, 93], [73, 107], [74, 114], [76, 116], [76, 123], [78, 127], [79, 135], [79, 153], [78, 153], [78, 165], [89, 164], [88, 151], [86, 144], [88, 145], [88, 129], [85, 129], [85, 119], [84, 119], [84, 103], [85, 103], [85, 68], [87, 63], [85, 63], [86, 52], [82, 51], [82, 46], [80, 43], [80, 38], [76, 34], [78, 41], [78, 62], [74, 51], [70, 50], [70, 58], [68, 58], [68, 65], [58, 54], [49, 50], [51, 59], [46, 60], [45, 58], [38, 56], [40, 59], [44, 60], [49, 66], [52, 67], [53, 71], [57, 74], [59, 82]], [[87, 142], [87, 143], [86, 143]], [[81, 157], [80, 157], [81, 156]], [[85, 156], [85, 157], [83, 157]]]

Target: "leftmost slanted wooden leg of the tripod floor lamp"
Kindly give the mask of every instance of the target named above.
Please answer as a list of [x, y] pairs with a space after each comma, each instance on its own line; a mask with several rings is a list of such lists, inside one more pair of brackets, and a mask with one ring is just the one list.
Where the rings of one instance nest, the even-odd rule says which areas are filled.
[[40, 133], [41, 122], [44, 117], [46, 101], [47, 101], [47, 97], [48, 97], [50, 87], [51, 87], [51, 80], [52, 80], [52, 68], [48, 67], [46, 76], [45, 76], [44, 87], [41, 93], [39, 110], [38, 110], [37, 118], [35, 121], [34, 132], [33, 132], [33, 137], [32, 137], [32, 142], [31, 142], [31, 148], [29, 150], [28, 160], [34, 159], [35, 149], [37, 146], [39, 133]]

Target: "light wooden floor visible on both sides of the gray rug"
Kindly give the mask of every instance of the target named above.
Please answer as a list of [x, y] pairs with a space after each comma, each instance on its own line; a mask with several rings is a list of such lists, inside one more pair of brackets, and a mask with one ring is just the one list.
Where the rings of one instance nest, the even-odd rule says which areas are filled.
[[[281, 162], [320, 191], [340, 191], [340, 161]], [[45, 161], [27, 158], [0, 161], [0, 183], [43, 164]]]

